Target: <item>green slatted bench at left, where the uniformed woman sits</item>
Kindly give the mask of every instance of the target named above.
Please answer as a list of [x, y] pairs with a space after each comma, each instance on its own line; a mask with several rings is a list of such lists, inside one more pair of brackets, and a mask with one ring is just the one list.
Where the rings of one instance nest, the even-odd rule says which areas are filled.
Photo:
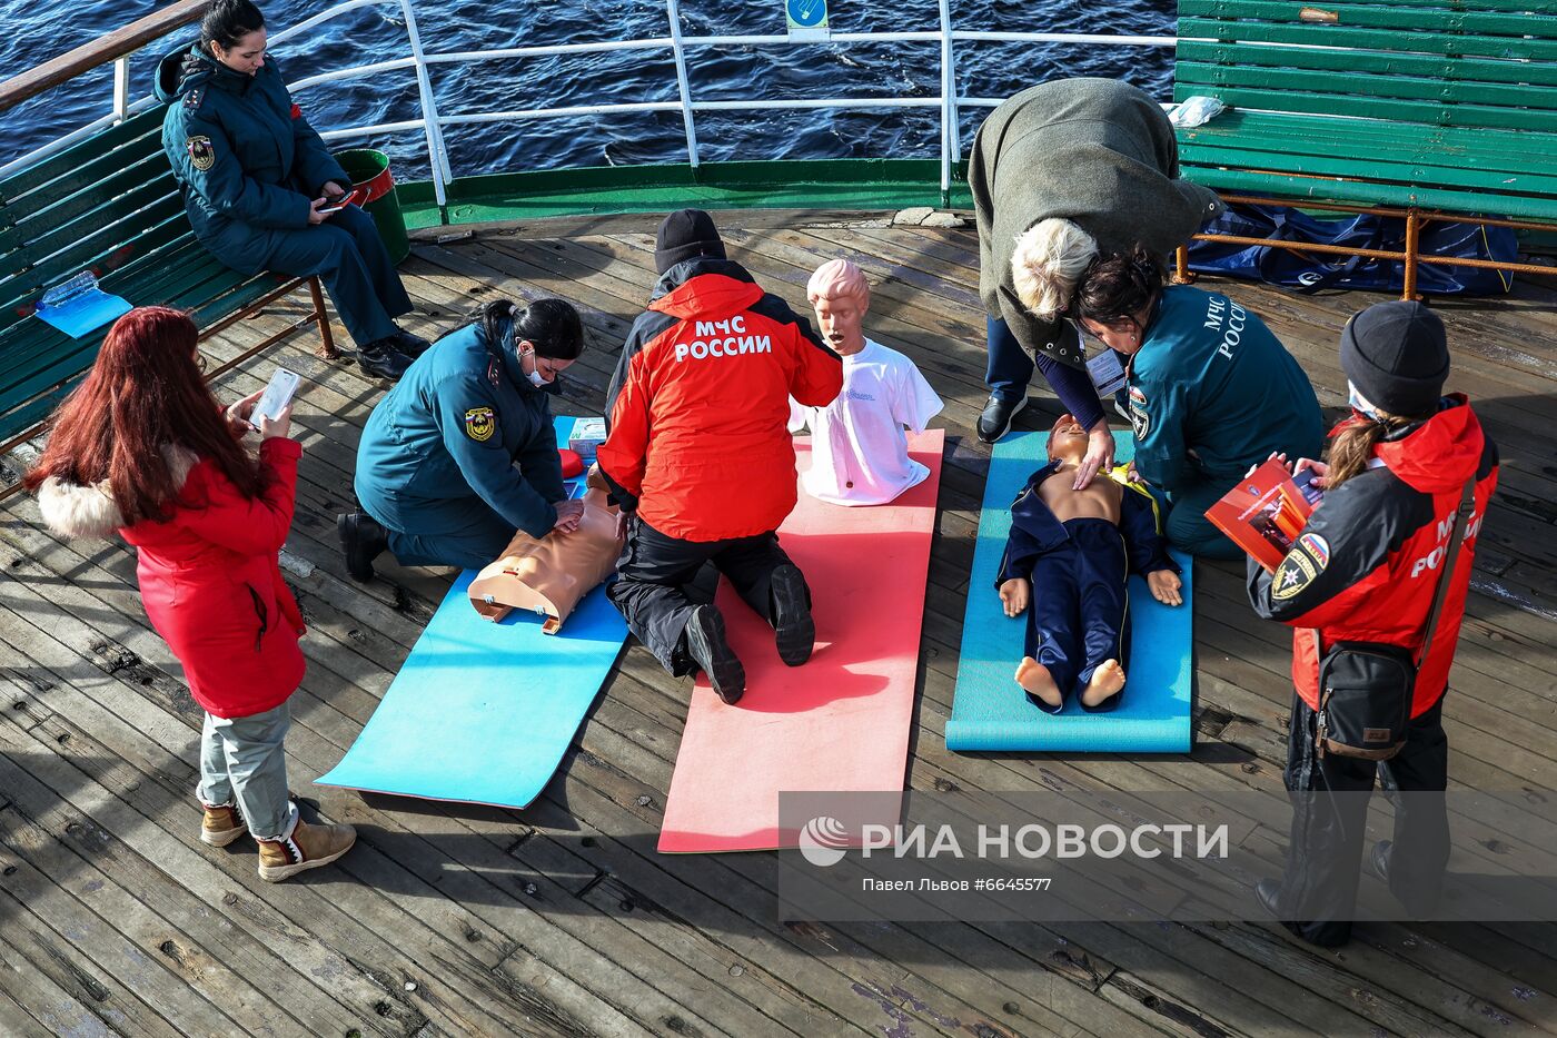
[[162, 151], [162, 112], [128, 118], [0, 181], [0, 455], [40, 432], [97, 357], [106, 327], [70, 338], [34, 316], [47, 288], [84, 270], [134, 305], [190, 310], [201, 338], [307, 284], [305, 316], [209, 377], [305, 324], [319, 329], [321, 355], [335, 357], [318, 279], [238, 274], [195, 240]]

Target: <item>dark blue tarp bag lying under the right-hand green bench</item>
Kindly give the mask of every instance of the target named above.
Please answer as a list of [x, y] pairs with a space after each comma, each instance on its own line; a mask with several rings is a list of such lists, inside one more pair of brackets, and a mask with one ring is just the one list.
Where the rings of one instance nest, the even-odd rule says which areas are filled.
[[[1205, 224], [1202, 231], [1362, 249], [1406, 248], [1404, 218], [1370, 214], [1327, 218], [1277, 206], [1228, 206], [1227, 212]], [[1512, 262], [1518, 256], [1518, 238], [1512, 228], [1481, 228], [1471, 223], [1434, 220], [1422, 226], [1418, 249], [1423, 256]], [[1297, 291], [1320, 288], [1400, 291], [1406, 263], [1334, 252], [1300, 252], [1269, 245], [1191, 242], [1190, 270], [1258, 279]], [[1493, 296], [1507, 293], [1512, 287], [1510, 271], [1417, 263], [1417, 291], [1425, 295]]]

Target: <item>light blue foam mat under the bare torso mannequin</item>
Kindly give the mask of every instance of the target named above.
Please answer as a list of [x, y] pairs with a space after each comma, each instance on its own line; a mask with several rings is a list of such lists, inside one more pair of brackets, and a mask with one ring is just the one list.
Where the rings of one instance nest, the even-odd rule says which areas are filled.
[[[571, 418], [557, 419], [559, 435]], [[556, 634], [515, 609], [486, 620], [467, 569], [428, 620], [363, 733], [321, 786], [525, 807], [562, 762], [627, 637], [596, 588]]]

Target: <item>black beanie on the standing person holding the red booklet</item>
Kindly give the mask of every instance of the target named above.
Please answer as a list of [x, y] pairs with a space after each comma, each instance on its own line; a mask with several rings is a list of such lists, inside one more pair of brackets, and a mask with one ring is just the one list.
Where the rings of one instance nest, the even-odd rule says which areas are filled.
[[1373, 407], [1428, 415], [1450, 374], [1443, 321], [1420, 302], [1373, 304], [1342, 329], [1341, 369]]

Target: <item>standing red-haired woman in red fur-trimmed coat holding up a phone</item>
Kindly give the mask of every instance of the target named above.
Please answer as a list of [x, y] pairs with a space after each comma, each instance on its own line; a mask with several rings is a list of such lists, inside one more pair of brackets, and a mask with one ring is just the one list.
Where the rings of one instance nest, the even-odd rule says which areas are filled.
[[304, 673], [302, 614], [277, 552], [293, 519], [302, 446], [291, 407], [258, 418], [258, 460], [240, 443], [255, 393], [226, 410], [199, 372], [195, 323], [167, 307], [131, 310], [59, 407], [26, 475], [44, 521], [67, 538], [115, 530], [135, 547], [140, 597], [206, 711], [201, 842], [246, 831], [260, 879], [329, 865], [350, 826], [305, 824], [286, 792], [286, 700]]

